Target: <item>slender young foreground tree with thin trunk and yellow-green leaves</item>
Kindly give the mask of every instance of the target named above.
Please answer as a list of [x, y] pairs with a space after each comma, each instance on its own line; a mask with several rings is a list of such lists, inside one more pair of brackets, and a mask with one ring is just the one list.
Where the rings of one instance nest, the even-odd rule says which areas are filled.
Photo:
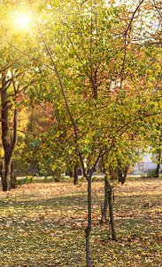
[[[58, 162], [64, 162], [67, 160], [67, 158], [73, 158], [73, 164], [76, 164], [80, 159], [83, 173], [88, 180], [89, 223], [86, 230], [88, 266], [90, 265], [89, 233], [91, 229], [91, 177], [93, 171], [98, 160], [110, 150], [114, 150], [115, 144], [120, 142], [120, 137], [122, 136], [123, 132], [129, 132], [129, 129], [131, 129], [130, 134], [132, 131], [135, 131], [135, 133], [139, 133], [139, 131], [144, 132], [147, 127], [146, 125], [148, 124], [147, 117], [150, 117], [151, 115], [150, 93], [144, 96], [143, 91], [139, 91], [139, 93], [143, 95], [143, 98], [139, 99], [138, 95], [135, 93], [136, 88], [134, 87], [136, 80], [139, 80], [140, 77], [143, 77], [145, 72], [143, 68], [138, 69], [138, 75], [136, 76], [136, 74], [131, 73], [129, 69], [130, 61], [136, 60], [133, 68], [138, 66], [138, 59], [135, 57], [135, 53], [137, 53], [138, 50], [135, 49], [130, 51], [128, 49], [129, 56], [127, 56], [127, 61], [125, 58], [123, 61], [123, 56], [125, 55], [125, 48], [123, 48], [123, 44], [125, 39], [119, 35], [117, 36], [117, 41], [119, 42], [117, 42], [116, 45], [118, 45], [118, 47], [120, 45], [120, 52], [118, 53], [117, 49], [113, 47], [111, 53], [116, 51], [115, 56], [112, 57], [112, 54], [111, 56], [107, 54], [109, 52], [108, 48], [110, 47], [110, 41], [108, 40], [107, 33], [106, 36], [104, 36], [102, 27], [104, 25], [110, 30], [112, 25], [108, 24], [107, 20], [105, 20], [103, 14], [104, 12], [100, 12], [100, 16], [104, 18], [102, 20], [102, 25], [97, 24], [96, 26], [95, 24], [97, 17], [95, 5], [91, 7], [90, 14], [87, 13], [82, 17], [81, 14], [79, 14], [76, 19], [74, 18], [72, 23], [73, 26], [70, 25], [70, 28], [69, 24], [65, 25], [66, 23], [64, 23], [64, 30], [66, 26], [66, 31], [68, 32], [66, 35], [67, 38], [64, 36], [65, 40], [63, 42], [63, 46], [59, 46], [59, 53], [58, 47], [56, 49], [56, 53], [55, 49], [53, 52], [55, 56], [57, 54], [58, 58], [60, 58], [62, 51], [62, 55], [64, 56], [60, 66], [58, 61], [56, 63], [56, 61], [52, 60], [52, 54], [47, 47], [51, 62], [53, 63], [55, 72], [58, 75], [58, 80], [63, 95], [63, 98], [59, 96], [59, 104], [56, 103], [55, 105], [56, 114], [59, 114], [59, 121], [60, 125], [62, 125], [62, 129], [60, 131], [58, 126], [54, 125], [54, 129], [51, 129], [52, 132], [50, 132], [52, 133], [52, 136], [49, 133], [50, 135], [48, 135], [48, 139], [50, 137], [50, 143], [52, 141], [55, 142], [54, 151], [56, 156], [54, 153], [52, 153], [52, 155], [55, 156], [54, 160], [56, 161], [58, 158]], [[95, 26], [97, 28], [95, 28]], [[76, 36], [78, 38], [76, 38]], [[112, 32], [109, 37], [113, 38]], [[44, 43], [47, 45], [45, 40]], [[141, 53], [141, 51], [138, 53]], [[105, 57], [104, 54], [106, 54]], [[108, 65], [109, 57], [111, 59], [111, 63], [114, 61], [113, 66]], [[102, 61], [100, 59], [102, 59]], [[117, 60], [121, 61], [122, 69], [120, 69], [120, 64], [116, 64]], [[65, 65], [65, 62], [66, 64], [68, 62], [67, 66]], [[75, 62], [76, 65], [74, 65]], [[124, 65], [127, 65], [127, 72], [125, 71], [125, 73], [123, 69], [125, 69], [126, 66]], [[106, 72], [107, 68], [109, 68], [109, 72]], [[63, 69], [64, 74], [62, 71], [60, 74], [58, 69]], [[69, 69], [71, 71], [70, 77]], [[73, 73], [74, 69], [77, 69], [77, 71], [74, 72], [75, 76]], [[68, 71], [68, 74], [66, 71]], [[70, 79], [70, 82], [68, 82], [67, 75]], [[105, 77], [105, 75], [107, 77]], [[120, 75], [122, 76], [122, 79], [120, 80], [120, 86], [116, 86], [116, 90], [114, 89], [112, 92], [112, 77], [118, 81], [118, 77], [120, 79]], [[62, 77], [64, 77], [64, 84]], [[128, 83], [124, 83], [124, 80], [129, 80], [130, 77], [132, 82], [130, 81]], [[128, 84], [133, 86], [133, 88], [128, 90]], [[146, 85], [143, 86], [143, 88], [145, 87]], [[73, 91], [72, 88], [74, 88]], [[117, 88], [118, 90], [120, 89], [120, 93], [118, 92]], [[79, 98], [76, 97], [77, 95]], [[65, 104], [62, 102], [63, 100], [65, 101]], [[156, 111], [155, 113], [152, 113], [152, 115], [154, 114], [157, 114]], [[143, 119], [143, 117], [145, 118]], [[114, 121], [117, 121], [115, 126], [113, 124]], [[146, 127], [143, 128], [143, 125]], [[66, 127], [65, 131], [64, 127]], [[68, 133], [66, 137], [65, 133]], [[44, 140], [44, 136], [43, 138], [40, 137], [40, 140], [43, 140], [42, 143], [44, 143], [45, 140], [47, 142], [47, 139]], [[58, 151], [60, 144], [64, 145], [62, 150]], [[47, 154], [48, 152], [46, 151], [43, 159], [45, 159], [45, 155], [47, 156]], [[85, 159], [87, 159], [87, 166], [89, 166], [90, 169], [89, 174], [87, 174], [84, 166]]]

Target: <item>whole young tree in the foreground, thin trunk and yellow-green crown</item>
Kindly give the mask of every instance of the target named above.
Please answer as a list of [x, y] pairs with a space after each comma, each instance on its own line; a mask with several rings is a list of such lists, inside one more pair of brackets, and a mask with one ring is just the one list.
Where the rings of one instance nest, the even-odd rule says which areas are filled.
[[[45, 36], [42, 36], [60, 85], [59, 90], [56, 80], [55, 88], [59, 90], [59, 101], [54, 102], [54, 109], [59, 123], [53, 125], [48, 135], [48, 146], [54, 151], [53, 157], [51, 158], [50, 150], [46, 150], [42, 166], [45, 166], [46, 160], [50, 161], [51, 165], [55, 165], [56, 161], [64, 162], [68, 158], [71, 158], [73, 165], [81, 162], [83, 174], [88, 180], [88, 266], [91, 178], [96, 164], [105, 154], [114, 150], [124, 133], [142, 134], [150, 124], [151, 118], [149, 121], [148, 117], [158, 114], [150, 101], [152, 93], [150, 88], [147, 88], [147, 81], [142, 81], [146, 75], [145, 66], [149, 67], [147, 56], [143, 49], [134, 48], [127, 40], [131, 20], [127, 32], [123, 35], [118, 29], [126, 27], [126, 20], [121, 23], [119, 20], [108, 20], [114, 10], [110, 12], [100, 4], [96, 6], [92, 2], [90, 5], [86, 3], [84, 10], [72, 17], [72, 23], [69, 23], [70, 16], [68, 22], [66, 18], [62, 19], [57, 32], [61, 44], [58, 45], [56, 37], [56, 46], [52, 47], [52, 52], [50, 44], [47, 44]], [[52, 8], [54, 9], [54, 6], [51, 6]], [[88, 10], [89, 12], [85, 12]], [[114, 30], [117, 30], [115, 38]], [[40, 31], [42, 35], [42, 30]], [[143, 65], [139, 68], [139, 57], [142, 55], [146, 61], [143, 60]], [[56, 60], [53, 60], [53, 57]], [[150, 77], [154, 73], [154, 69], [150, 70]], [[117, 84], [113, 89], [112, 82]], [[137, 89], [138, 85], [141, 87]], [[44, 147], [47, 136], [40, 136], [39, 142], [42, 142]], [[41, 146], [38, 150], [42, 150]]]

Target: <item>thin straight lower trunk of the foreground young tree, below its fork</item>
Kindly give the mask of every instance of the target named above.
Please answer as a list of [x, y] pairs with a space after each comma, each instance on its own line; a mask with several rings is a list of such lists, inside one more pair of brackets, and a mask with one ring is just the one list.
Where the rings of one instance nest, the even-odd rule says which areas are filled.
[[90, 267], [90, 249], [89, 249], [89, 235], [91, 231], [91, 175], [88, 176], [88, 226], [86, 228], [86, 260], [87, 266]]

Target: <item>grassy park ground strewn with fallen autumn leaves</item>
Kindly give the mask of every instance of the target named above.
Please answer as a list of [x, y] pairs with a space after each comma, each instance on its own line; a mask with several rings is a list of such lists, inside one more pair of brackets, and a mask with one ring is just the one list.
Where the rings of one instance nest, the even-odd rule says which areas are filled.
[[[93, 266], [161, 266], [162, 181], [114, 183], [118, 242], [100, 224], [104, 182], [93, 188]], [[86, 266], [87, 183], [33, 182], [0, 191], [0, 266]]]

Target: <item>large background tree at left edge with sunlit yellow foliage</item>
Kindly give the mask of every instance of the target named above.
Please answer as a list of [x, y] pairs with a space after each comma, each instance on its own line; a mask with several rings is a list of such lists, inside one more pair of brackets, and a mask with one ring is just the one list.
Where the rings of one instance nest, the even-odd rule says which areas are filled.
[[[35, 48], [32, 49], [32, 45], [29, 45], [32, 44], [32, 37], [27, 36], [27, 34], [29, 34], [31, 28], [24, 24], [25, 16], [18, 22], [19, 9], [21, 12], [23, 10], [27, 12], [27, 8], [19, 6], [14, 1], [11, 3], [1, 2], [0, 7], [2, 8], [0, 38], [3, 39], [0, 51], [0, 94], [4, 150], [1, 176], [3, 190], [10, 190], [11, 187], [15, 187], [13, 154], [18, 142], [19, 101], [22, 100], [22, 95], [27, 90], [27, 86], [33, 85], [35, 81], [35, 64], [30, 62], [35, 56]], [[19, 23], [21, 24], [19, 25]], [[26, 26], [28, 29], [24, 30]], [[16, 49], [14, 44], [19, 44], [19, 48]], [[28, 58], [25, 57], [26, 53], [19, 54], [22, 47], [26, 48], [26, 53], [30, 53]], [[37, 59], [37, 61], [39, 60]]]

